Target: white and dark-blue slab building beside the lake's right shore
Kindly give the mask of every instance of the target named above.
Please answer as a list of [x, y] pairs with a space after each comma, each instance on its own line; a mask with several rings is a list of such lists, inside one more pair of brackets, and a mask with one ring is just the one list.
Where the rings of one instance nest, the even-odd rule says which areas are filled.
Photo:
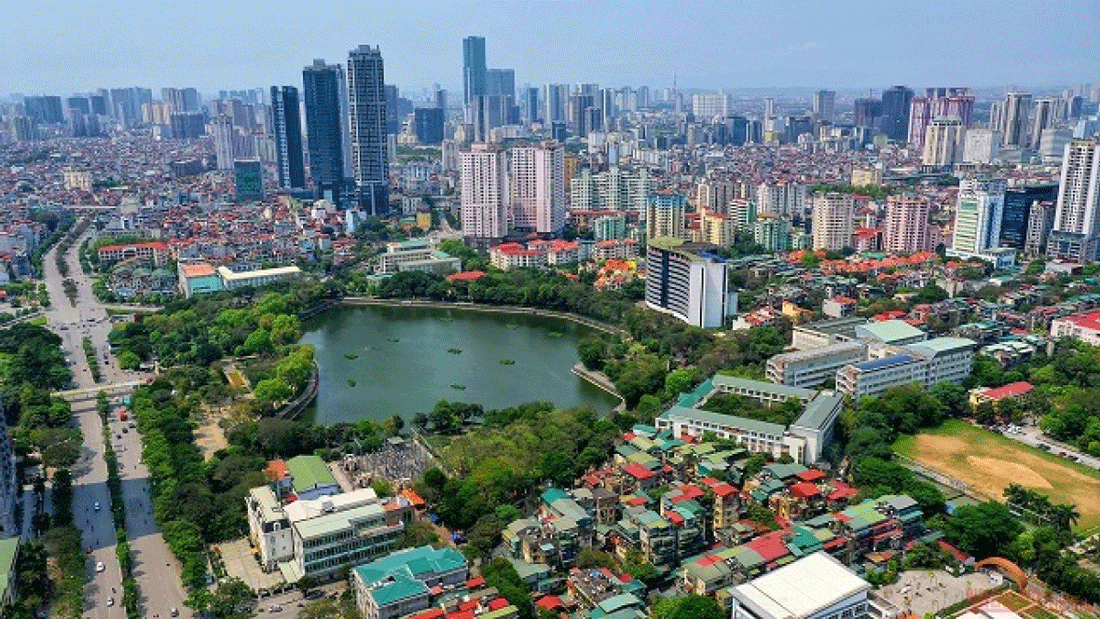
[[708, 245], [658, 237], [646, 248], [646, 306], [688, 324], [723, 327], [737, 311], [730, 294], [725, 261]]

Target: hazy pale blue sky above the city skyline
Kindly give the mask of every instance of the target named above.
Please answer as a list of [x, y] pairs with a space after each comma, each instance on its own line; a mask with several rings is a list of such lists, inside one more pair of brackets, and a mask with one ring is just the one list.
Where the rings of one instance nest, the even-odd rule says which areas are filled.
[[1100, 81], [1100, 0], [0, 0], [0, 92], [25, 95], [300, 86], [312, 58], [361, 44], [403, 92], [453, 91], [468, 35], [517, 86]]

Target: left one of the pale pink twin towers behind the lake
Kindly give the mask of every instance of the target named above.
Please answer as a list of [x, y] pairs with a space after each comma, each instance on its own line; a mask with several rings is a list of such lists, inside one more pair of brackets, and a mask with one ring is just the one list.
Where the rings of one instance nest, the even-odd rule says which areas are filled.
[[508, 170], [499, 146], [477, 143], [461, 155], [462, 234], [481, 244], [508, 233]]

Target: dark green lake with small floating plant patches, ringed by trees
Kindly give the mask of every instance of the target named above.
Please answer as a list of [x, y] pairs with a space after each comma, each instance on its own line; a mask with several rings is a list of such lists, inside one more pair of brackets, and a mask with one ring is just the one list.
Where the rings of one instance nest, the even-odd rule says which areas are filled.
[[529, 314], [435, 307], [338, 306], [302, 324], [317, 349], [312, 419], [406, 420], [439, 400], [486, 409], [530, 401], [606, 412], [618, 399], [572, 373], [592, 329]]

